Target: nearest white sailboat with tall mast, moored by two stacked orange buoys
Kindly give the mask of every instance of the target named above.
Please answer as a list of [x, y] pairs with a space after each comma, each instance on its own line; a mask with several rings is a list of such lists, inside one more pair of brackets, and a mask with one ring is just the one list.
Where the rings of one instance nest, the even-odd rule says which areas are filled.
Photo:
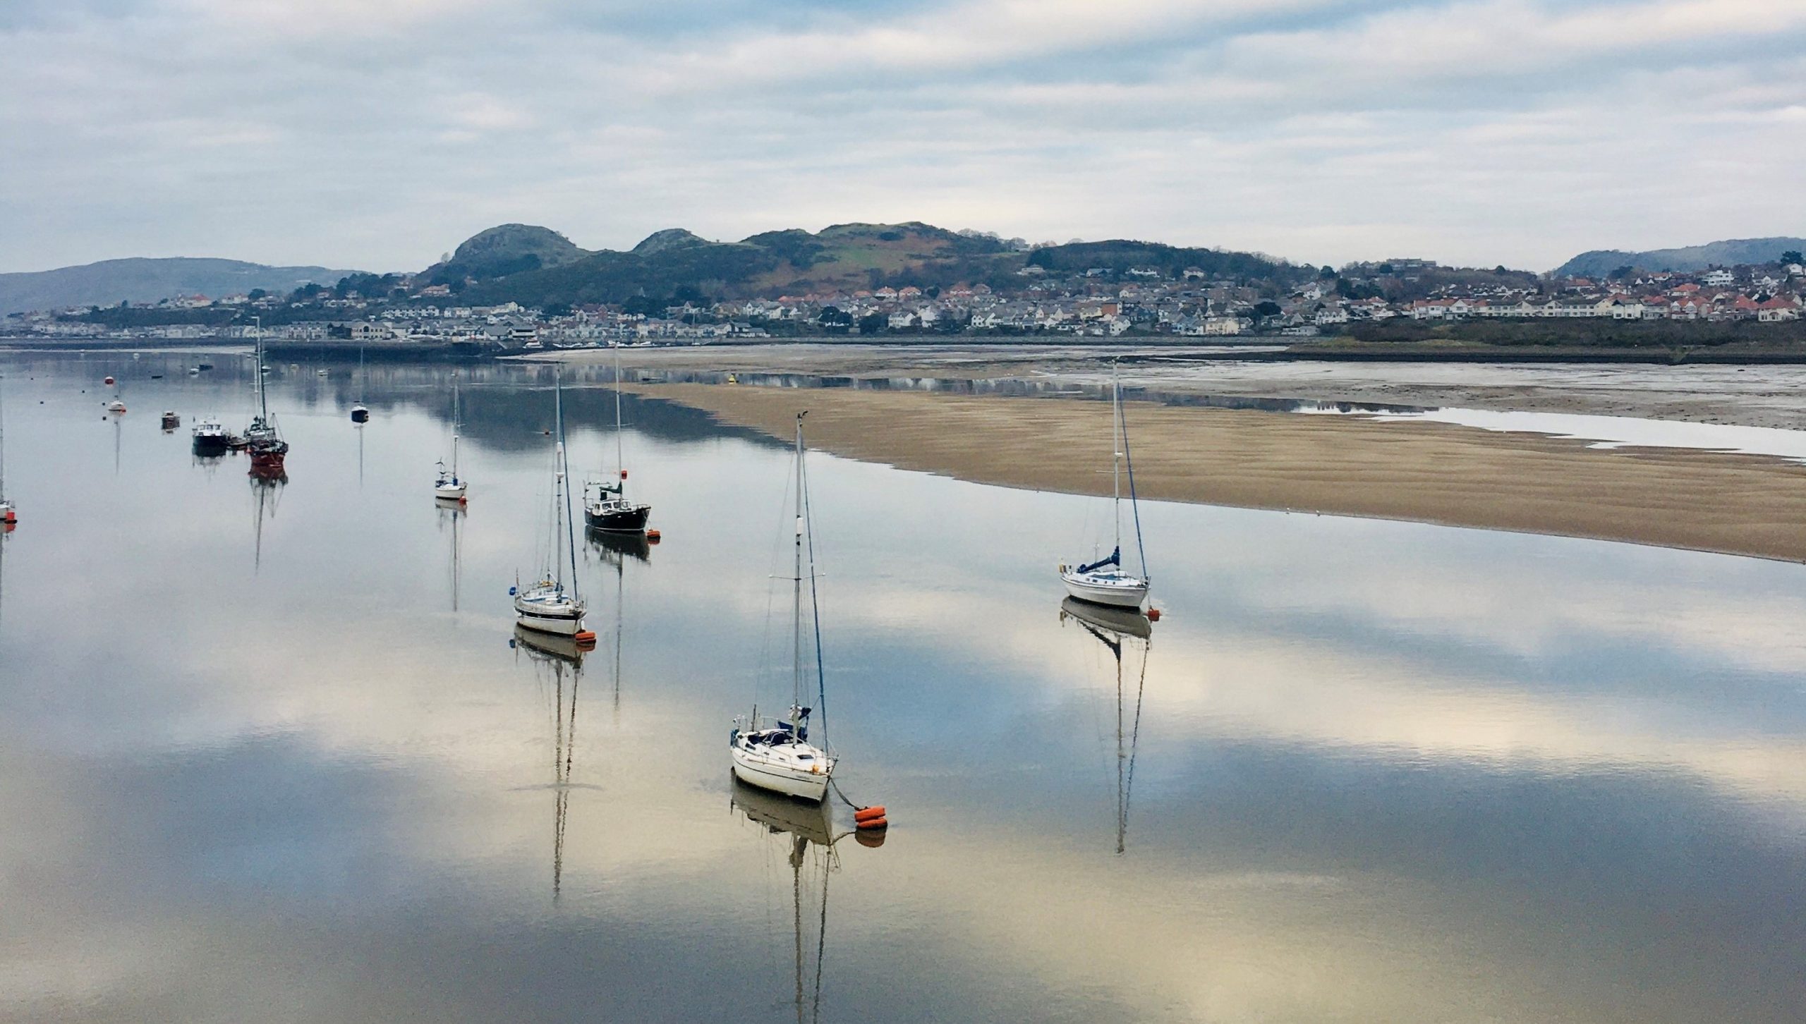
[[[791, 706], [789, 719], [766, 724], [753, 713], [733, 721], [728, 733], [728, 749], [733, 757], [733, 775], [740, 782], [786, 793], [800, 800], [820, 802], [827, 796], [827, 784], [834, 775], [834, 757], [809, 744], [809, 713], [813, 708], [802, 706], [804, 674], [807, 657], [804, 656], [804, 619], [802, 619], [802, 583], [809, 580], [809, 610], [815, 632], [815, 679], [818, 704], [827, 695], [827, 681], [822, 672], [822, 610], [815, 600], [815, 544], [809, 535], [809, 486], [804, 477], [802, 417], [796, 414], [796, 558], [795, 558], [795, 610], [791, 616]], [[804, 547], [807, 545], [809, 574], [804, 576]], [[824, 724], [825, 728], [825, 724]], [[825, 740], [824, 740], [825, 744]]]

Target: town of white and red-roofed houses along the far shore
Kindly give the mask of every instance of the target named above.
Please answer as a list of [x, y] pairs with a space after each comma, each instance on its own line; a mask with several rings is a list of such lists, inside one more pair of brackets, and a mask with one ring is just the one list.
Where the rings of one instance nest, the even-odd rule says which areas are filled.
[[[1472, 320], [1795, 321], [1806, 311], [1799, 253], [1772, 264], [1694, 273], [1624, 267], [1602, 278], [1470, 271], [1396, 258], [1322, 267], [1304, 284], [1212, 276], [1197, 267], [1024, 265], [988, 284], [818, 289], [769, 298], [701, 294], [627, 303], [461, 305], [459, 287], [426, 276], [358, 275], [291, 294], [188, 294], [117, 307], [14, 312], [14, 340], [271, 340], [574, 349], [719, 343], [789, 336], [1172, 336], [1221, 341], [1333, 338], [1360, 325]], [[681, 289], [679, 289], [681, 291]]]

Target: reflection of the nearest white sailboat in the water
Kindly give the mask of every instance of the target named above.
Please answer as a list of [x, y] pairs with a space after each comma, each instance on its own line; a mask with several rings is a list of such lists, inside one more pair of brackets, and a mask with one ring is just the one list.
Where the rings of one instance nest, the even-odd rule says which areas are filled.
[[[740, 815], [746, 815], [748, 822], [760, 825], [771, 836], [782, 836], [784, 856], [791, 869], [791, 928], [795, 936], [795, 999], [796, 999], [796, 1022], [820, 1020], [822, 1017], [822, 961], [827, 952], [827, 878], [840, 870], [840, 854], [834, 851], [834, 843], [847, 838], [849, 834], [858, 836], [861, 845], [878, 847], [883, 845], [883, 833], [856, 833], [852, 829], [843, 833], [834, 833], [834, 818], [831, 805], [824, 800], [820, 804], [793, 800], [780, 793], [771, 793], [768, 789], [759, 789], [748, 786], [739, 778], [733, 780], [731, 805]], [[815, 880], [820, 876], [820, 894], [816, 896], [816, 919], [815, 925], [815, 964], [811, 970], [809, 955], [804, 945], [804, 892], [802, 876], [804, 867], [809, 867], [811, 896], [815, 892]], [[813, 979], [809, 977], [813, 975]], [[805, 991], [805, 979], [809, 981]]]

